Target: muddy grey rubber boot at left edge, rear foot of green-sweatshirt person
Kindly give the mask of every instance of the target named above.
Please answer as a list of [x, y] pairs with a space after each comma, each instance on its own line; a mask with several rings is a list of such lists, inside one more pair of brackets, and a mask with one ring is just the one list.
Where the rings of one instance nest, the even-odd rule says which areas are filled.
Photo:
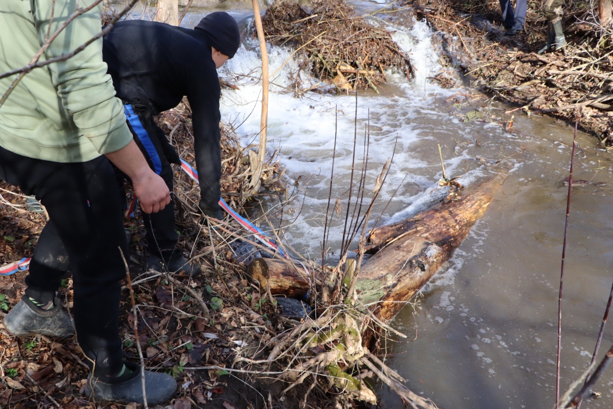
[[16, 337], [47, 335], [48, 337], [65, 338], [74, 335], [72, 321], [68, 313], [62, 309], [62, 302], [56, 298], [53, 304], [55, 306], [50, 310], [43, 310], [22, 297], [20, 302], [4, 317], [2, 324], [6, 331]]

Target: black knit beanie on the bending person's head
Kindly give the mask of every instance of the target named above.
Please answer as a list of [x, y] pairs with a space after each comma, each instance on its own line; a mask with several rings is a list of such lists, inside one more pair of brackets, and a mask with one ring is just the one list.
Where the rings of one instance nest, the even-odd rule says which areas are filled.
[[234, 17], [226, 12], [210, 13], [200, 20], [196, 30], [204, 31], [215, 50], [234, 57], [240, 46], [240, 31]]

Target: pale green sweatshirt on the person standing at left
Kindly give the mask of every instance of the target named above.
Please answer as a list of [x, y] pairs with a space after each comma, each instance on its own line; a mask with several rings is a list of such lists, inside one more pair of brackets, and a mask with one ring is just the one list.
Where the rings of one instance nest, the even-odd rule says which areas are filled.
[[[76, 7], [93, 0], [0, 0], [0, 74], [28, 65]], [[101, 31], [102, 5], [75, 18], [39, 61], [68, 53]], [[49, 31], [50, 27], [50, 31]], [[0, 80], [0, 96], [17, 75]], [[29, 158], [85, 162], [132, 140], [102, 39], [76, 56], [27, 74], [0, 107], [0, 146]]]

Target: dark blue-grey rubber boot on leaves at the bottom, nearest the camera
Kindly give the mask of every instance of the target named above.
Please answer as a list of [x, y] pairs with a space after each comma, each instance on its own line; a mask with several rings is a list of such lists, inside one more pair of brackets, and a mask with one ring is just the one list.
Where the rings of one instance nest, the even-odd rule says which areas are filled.
[[[140, 378], [140, 366], [124, 362], [132, 372], [117, 378], [95, 377], [89, 373], [85, 394], [94, 400], [118, 403], [145, 404]], [[145, 392], [149, 405], [161, 405], [172, 398], [177, 390], [177, 381], [166, 373], [145, 371]]]

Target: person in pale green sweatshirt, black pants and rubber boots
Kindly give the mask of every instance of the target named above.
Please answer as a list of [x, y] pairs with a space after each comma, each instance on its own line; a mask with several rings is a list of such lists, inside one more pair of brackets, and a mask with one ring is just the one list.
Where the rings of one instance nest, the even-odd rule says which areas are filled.
[[[26, 66], [48, 32], [77, 6], [91, 4], [1, 0], [0, 74]], [[40, 61], [99, 33], [101, 8], [75, 18]], [[35, 195], [49, 215], [30, 262], [28, 288], [2, 324], [16, 336], [67, 337], [76, 331], [91, 369], [86, 392], [99, 400], [143, 403], [139, 365], [123, 360], [119, 336], [128, 244], [110, 162], [131, 178], [143, 211], [158, 212], [170, 193], [134, 142], [106, 72], [99, 39], [73, 58], [29, 72], [0, 107], [0, 178]], [[0, 79], [0, 95], [16, 77]], [[54, 260], [47, 259], [58, 246], [66, 248], [72, 267], [74, 326], [56, 298], [60, 278], [52, 273]], [[170, 375], [147, 371], [145, 378], [149, 404], [175, 393]]]

